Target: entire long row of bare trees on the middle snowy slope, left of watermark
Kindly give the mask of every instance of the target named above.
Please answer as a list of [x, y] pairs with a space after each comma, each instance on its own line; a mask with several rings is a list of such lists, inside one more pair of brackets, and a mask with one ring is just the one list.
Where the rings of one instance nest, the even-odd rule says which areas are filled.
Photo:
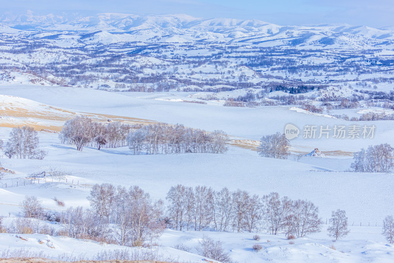
[[60, 141], [75, 145], [82, 151], [84, 146], [122, 147], [129, 145], [134, 155], [174, 153], [224, 153], [228, 136], [223, 131], [208, 133], [203, 130], [165, 124], [127, 125], [93, 122], [88, 117], [78, 116], [66, 121]]

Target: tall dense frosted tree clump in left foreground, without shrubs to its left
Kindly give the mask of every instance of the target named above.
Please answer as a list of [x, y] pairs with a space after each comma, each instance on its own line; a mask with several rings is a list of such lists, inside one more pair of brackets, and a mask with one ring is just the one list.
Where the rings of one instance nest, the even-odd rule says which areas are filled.
[[[92, 210], [86, 212], [86, 216], [89, 218], [92, 213], [96, 221], [93, 226], [100, 226], [97, 234], [119, 245], [142, 246], [159, 237], [165, 228], [163, 201], [152, 203], [149, 194], [137, 186], [126, 189], [97, 184], [88, 199]], [[112, 227], [108, 230], [109, 225]]]

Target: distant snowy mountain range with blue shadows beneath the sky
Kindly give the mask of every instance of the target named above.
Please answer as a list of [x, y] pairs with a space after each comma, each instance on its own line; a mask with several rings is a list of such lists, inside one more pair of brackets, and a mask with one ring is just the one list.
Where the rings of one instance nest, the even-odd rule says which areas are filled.
[[[393, 49], [394, 28], [375, 29], [347, 24], [279, 26], [260, 20], [201, 19], [184, 14], [139, 16], [102, 13], [95, 16], [0, 16], [0, 33], [31, 34], [62, 39], [65, 35], [98, 43], [119, 42], [233, 42], [259, 46], [304, 48]], [[42, 34], [43, 32], [50, 32]], [[40, 33], [40, 34], [36, 34]]]

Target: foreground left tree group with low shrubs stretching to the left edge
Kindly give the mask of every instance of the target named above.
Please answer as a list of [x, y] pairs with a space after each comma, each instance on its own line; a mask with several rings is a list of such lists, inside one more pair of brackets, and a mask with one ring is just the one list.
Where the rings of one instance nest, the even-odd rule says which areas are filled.
[[[37, 197], [26, 196], [20, 204], [24, 217], [17, 218], [15, 226], [9, 231], [57, 234], [123, 246], [142, 246], [148, 241], [152, 245], [152, 241], [160, 237], [165, 229], [163, 201], [153, 203], [149, 194], [137, 186], [126, 189], [111, 184], [96, 184], [88, 200], [90, 209], [77, 206], [58, 213], [44, 210]], [[55, 198], [55, 201], [60, 205], [58, 199]], [[40, 223], [41, 220], [60, 222], [62, 229], [56, 231], [47, 228]]]

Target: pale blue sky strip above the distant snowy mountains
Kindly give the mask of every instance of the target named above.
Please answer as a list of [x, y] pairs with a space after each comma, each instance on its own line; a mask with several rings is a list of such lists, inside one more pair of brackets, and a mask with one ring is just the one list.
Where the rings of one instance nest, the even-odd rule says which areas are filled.
[[394, 26], [394, 0], [0, 0], [0, 11], [184, 13], [259, 19], [279, 25], [348, 23]]

